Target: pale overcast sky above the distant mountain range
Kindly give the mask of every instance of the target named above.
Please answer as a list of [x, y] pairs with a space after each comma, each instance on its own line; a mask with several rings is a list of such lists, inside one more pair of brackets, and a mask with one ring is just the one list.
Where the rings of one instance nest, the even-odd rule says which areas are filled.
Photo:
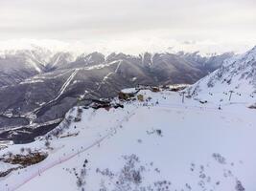
[[128, 53], [244, 51], [256, 45], [256, 1], [0, 0], [0, 47], [28, 39]]

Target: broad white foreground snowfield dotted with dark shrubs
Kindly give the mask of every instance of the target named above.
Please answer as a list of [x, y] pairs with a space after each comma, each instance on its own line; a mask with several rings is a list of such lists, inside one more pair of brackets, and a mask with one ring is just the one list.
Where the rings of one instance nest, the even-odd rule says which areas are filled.
[[51, 140], [53, 149], [36, 140], [0, 151], [49, 153], [0, 179], [0, 190], [256, 190], [256, 111], [247, 108], [255, 98], [239, 96], [236, 103], [235, 96], [230, 102], [221, 94], [219, 110], [215, 96], [201, 104], [194, 98], [182, 103], [167, 91], [139, 94], [151, 100], [109, 111], [82, 109], [81, 121]]

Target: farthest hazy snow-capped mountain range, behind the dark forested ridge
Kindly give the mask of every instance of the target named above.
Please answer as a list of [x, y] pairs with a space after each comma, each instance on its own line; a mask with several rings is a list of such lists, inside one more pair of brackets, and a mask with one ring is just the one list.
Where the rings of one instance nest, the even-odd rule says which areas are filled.
[[[195, 76], [181, 80], [198, 80], [198, 75], [207, 74], [220, 67], [225, 58], [232, 53], [217, 56], [200, 56], [198, 53], [143, 53], [139, 56], [125, 53], [82, 53], [76, 55], [68, 52], [53, 52], [34, 46], [27, 50], [7, 50], [0, 52], [0, 87], [15, 85], [35, 74], [44, 74], [58, 69], [74, 69], [89, 65], [99, 65], [111, 61], [126, 60], [134, 65], [143, 66], [152, 71], [179, 73], [181, 70], [193, 71]], [[214, 59], [217, 59], [216, 62]], [[170, 72], [169, 72], [170, 71]], [[163, 77], [164, 78], [164, 77]], [[159, 79], [161, 80], [161, 79]], [[169, 79], [171, 80], [171, 79]], [[172, 79], [174, 80], [174, 78]]]

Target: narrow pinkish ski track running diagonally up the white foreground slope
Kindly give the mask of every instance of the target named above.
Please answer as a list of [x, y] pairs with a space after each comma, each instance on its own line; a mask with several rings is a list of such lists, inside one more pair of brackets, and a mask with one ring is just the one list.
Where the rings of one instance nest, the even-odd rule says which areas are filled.
[[25, 185], [27, 182], [31, 181], [31, 180], [34, 180], [36, 177], [39, 177], [42, 173], [46, 172], [47, 170], [50, 170], [52, 169], [53, 167], [65, 162], [65, 161], [68, 161], [70, 159], [73, 159], [77, 156], [79, 156], [81, 153], [85, 152], [85, 151], [88, 151], [89, 149], [93, 148], [94, 146], [97, 146], [99, 145], [101, 142], [103, 142], [106, 138], [110, 138], [112, 136], [114, 136], [117, 132], [117, 130], [120, 128], [120, 126], [128, 121], [130, 119], [130, 117], [134, 116], [135, 114], [135, 110], [137, 110], [137, 108], [135, 108], [133, 111], [131, 111], [126, 117], [124, 117], [122, 120], [120, 120], [116, 125], [115, 127], [111, 128], [109, 130], [108, 133], [106, 133], [106, 135], [103, 137], [103, 138], [99, 138], [98, 140], [95, 140], [94, 142], [92, 142], [90, 145], [86, 146], [85, 148], [79, 150], [78, 152], [72, 152], [71, 154], [67, 155], [66, 157], [64, 158], [60, 158], [58, 160], [55, 160], [51, 163], [48, 163], [46, 164], [45, 166], [37, 169], [37, 170], [34, 170], [34, 172], [28, 176], [26, 179], [24, 179], [22, 182], [20, 183], [17, 183], [16, 185], [13, 185], [12, 184], [12, 187], [7, 187], [6, 190], [7, 191], [15, 191], [17, 190], [18, 188], [20, 188], [21, 186]]

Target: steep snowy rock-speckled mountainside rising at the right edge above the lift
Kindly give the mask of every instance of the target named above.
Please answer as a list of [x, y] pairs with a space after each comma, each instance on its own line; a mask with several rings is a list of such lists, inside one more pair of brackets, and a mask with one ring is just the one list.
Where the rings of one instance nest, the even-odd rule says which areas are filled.
[[214, 96], [220, 104], [223, 99], [235, 102], [255, 101], [256, 47], [225, 60], [220, 69], [188, 88], [188, 94], [204, 100]]

